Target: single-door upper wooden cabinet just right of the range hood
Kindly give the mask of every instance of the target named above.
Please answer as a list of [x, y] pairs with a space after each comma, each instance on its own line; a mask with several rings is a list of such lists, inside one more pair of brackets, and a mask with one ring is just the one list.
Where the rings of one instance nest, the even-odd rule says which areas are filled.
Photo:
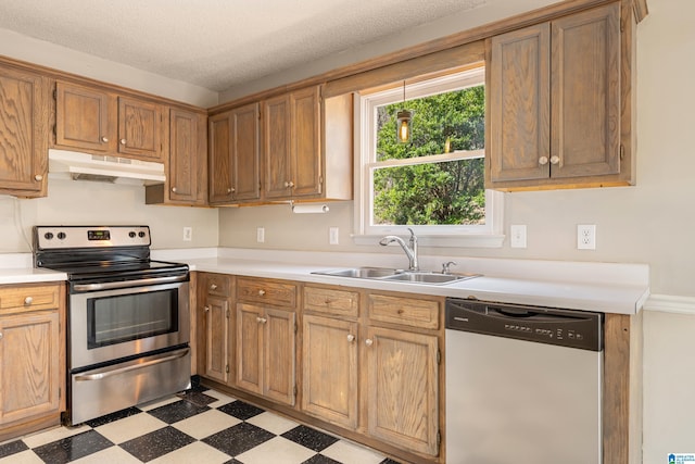
[[146, 187], [146, 203], [207, 204], [207, 117], [169, 109], [166, 181]]

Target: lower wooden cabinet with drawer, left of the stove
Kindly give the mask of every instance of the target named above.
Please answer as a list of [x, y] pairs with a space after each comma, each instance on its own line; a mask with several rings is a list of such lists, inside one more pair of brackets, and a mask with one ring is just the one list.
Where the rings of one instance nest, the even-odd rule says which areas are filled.
[[0, 287], [0, 441], [60, 423], [64, 296], [62, 284]]

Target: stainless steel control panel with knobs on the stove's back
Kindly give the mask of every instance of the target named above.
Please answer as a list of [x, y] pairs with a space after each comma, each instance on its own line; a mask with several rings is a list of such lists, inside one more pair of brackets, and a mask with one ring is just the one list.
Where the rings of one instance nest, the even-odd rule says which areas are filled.
[[35, 226], [37, 250], [60, 248], [149, 247], [149, 226]]

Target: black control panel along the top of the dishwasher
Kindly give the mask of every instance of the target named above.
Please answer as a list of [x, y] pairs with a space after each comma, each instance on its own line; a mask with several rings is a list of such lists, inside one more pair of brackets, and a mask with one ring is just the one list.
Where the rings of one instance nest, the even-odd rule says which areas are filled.
[[448, 298], [446, 329], [603, 351], [603, 314]]

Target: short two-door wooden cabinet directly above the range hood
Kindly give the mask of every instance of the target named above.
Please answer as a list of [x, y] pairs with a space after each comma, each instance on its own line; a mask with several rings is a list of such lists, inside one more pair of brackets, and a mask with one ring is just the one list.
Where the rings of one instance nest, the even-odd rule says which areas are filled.
[[55, 147], [164, 161], [168, 123], [155, 102], [72, 83], [55, 84]]

